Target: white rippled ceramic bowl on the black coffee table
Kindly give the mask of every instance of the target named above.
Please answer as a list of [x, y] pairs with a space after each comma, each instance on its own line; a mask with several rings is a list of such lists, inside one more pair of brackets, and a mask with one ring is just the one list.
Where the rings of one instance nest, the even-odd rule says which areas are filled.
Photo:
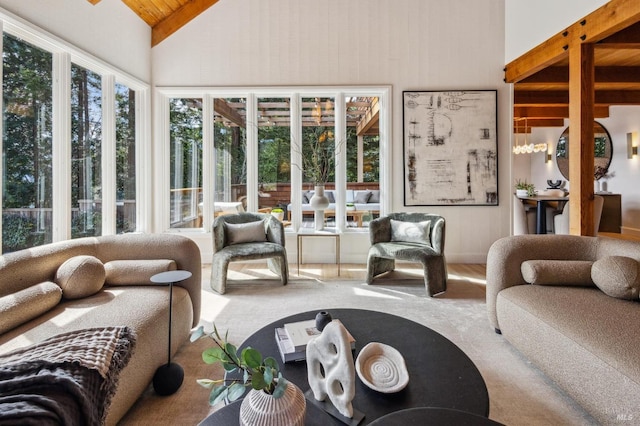
[[409, 383], [409, 372], [402, 354], [384, 343], [371, 342], [356, 359], [356, 372], [362, 383], [382, 393], [399, 392]]

